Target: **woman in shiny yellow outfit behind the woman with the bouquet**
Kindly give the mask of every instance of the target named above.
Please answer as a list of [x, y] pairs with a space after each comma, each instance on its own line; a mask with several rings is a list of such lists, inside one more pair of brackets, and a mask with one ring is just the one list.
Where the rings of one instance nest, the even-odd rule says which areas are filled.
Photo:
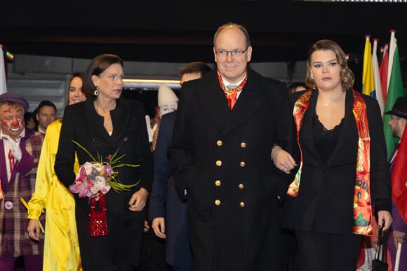
[[[69, 105], [86, 100], [82, 92], [84, 74], [74, 73], [69, 82]], [[35, 192], [29, 200], [28, 232], [39, 239], [39, 217], [46, 209], [44, 238], [44, 270], [79, 271], [81, 255], [75, 220], [75, 201], [71, 192], [60, 183], [54, 171], [62, 119], [48, 125], [36, 173]], [[79, 170], [76, 159], [75, 172]]]

